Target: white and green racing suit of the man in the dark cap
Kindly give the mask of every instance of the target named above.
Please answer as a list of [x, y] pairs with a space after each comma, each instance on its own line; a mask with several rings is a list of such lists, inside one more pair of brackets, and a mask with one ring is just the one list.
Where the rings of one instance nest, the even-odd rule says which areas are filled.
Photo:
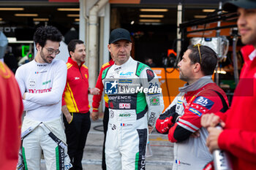
[[105, 69], [102, 82], [110, 113], [105, 143], [107, 169], [145, 169], [148, 125], [154, 127], [164, 109], [157, 75], [129, 57], [121, 66]]

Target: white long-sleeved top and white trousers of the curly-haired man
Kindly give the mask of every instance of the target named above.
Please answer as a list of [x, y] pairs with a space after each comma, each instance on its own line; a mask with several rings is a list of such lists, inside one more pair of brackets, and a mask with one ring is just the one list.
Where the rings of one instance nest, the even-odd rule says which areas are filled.
[[[67, 80], [67, 65], [64, 61], [30, 61], [17, 69], [15, 78], [20, 86], [21, 95], [26, 93], [26, 99], [23, 100], [26, 116], [21, 132], [43, 123], [58, 139], [66, 142], [61, 120], [61, 96]], [[25, 169], [40, 169], [42, 150], [47, 170], [63, 169], [63, 163], [59, 162], [61, 160], [58, 145], [41, 126], [34, 128], [34, 131], [23, 139], [22, 146]], [[68, 157], [64, 164], [69, 166]]]

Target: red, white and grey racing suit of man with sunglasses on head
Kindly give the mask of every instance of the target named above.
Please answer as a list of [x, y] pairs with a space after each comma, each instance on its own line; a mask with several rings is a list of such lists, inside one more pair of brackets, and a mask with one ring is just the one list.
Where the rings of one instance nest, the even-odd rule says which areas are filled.
[[[181, 93], [157, 119], [156, 128], [175, 142], [173, 170], [203, 169], [213, 158], [206, 147], [208, 132], [200, 125], [200, 117], [219, 110], [225, 112], [227, 96], [211, 77], [203, 77], [179, 90]], [[192, 137], [198, 130], [200, 137]]]

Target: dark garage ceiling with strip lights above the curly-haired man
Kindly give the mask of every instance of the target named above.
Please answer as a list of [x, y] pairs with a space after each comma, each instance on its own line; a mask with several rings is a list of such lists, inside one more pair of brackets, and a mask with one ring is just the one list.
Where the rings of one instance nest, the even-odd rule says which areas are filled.
[[0, 31], [13, 37], [14, 29], [22, 29], [20, 33], [26, 34], [45, 25], [57, 26], [62, 34], [70, 28], [78, 30], [80, 7], [77, 0], [67, 3], [49, 1], [0, 1]]

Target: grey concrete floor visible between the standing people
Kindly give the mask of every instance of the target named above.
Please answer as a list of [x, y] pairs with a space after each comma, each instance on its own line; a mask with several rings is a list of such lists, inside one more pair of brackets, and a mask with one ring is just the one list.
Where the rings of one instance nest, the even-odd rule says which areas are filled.
[[[103, 144], [102, 119], [91, 121], [91, 130], [87, 136], [83, 152], [83, 169], [100, 170]], [[158, 134], [155, 130], [149, 135], [153, 155], [146, 158], [147, 170], [171, 170], [173, 165], [173, 144], [168, 142], [167, 135]], [[45, 170], [42, 160], [41, 170]]]

